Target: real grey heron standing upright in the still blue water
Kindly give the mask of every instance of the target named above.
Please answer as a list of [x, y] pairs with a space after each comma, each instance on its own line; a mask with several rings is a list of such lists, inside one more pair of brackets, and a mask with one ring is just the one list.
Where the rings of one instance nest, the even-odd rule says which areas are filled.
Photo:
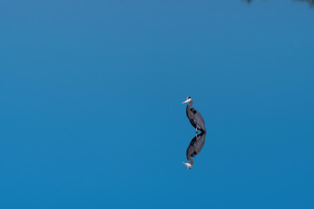
[[202, 115], [194, 107], [191, 108], [191, 106], [193, 105], [192, 98], [191, 97], [187, 97], [186, 100], [184, 102], [182, 102], [182, 104], [183, 103], [187, 103], [187, 102], [190, 102], [187, 105], [187, 116], [188, 116], [192, 126], [196, 129], [196, 136], [198, 134], [198, 130], [200, 130], [202, 132], [206, 132], [205, 122], [204, 122], [204, 119], [203, 119]]

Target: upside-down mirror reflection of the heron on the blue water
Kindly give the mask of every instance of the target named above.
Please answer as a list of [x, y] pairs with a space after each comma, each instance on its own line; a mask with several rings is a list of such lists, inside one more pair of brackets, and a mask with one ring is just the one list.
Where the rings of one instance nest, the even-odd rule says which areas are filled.
[[190, 163], [182, 162], [187, 166], [187, 168], [192, 168], [193, 166], [193, 159], [192, 157], [195, 157], [200, 153], [202, 150], [204, 144], [205, 144], [205, 137], [206, 137], [206, 132], [200, 133], [200, 135], [195, 136], [191, 142], [190, 145], [187, 149], [187, 159], [190, 161]]

